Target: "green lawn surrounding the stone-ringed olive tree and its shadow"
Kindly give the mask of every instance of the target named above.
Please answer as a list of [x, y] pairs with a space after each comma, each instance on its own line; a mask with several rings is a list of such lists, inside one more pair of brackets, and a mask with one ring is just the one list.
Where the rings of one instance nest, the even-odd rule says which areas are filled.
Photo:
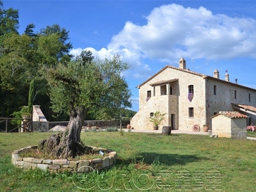
[[[256, 141], [252, 140], [132, 131], [124, 132], [123, 136], [119, 132], [82, 132], [81, 140], [86, 145], [111, 148], [117, 152], [118, 159], [113, 168], [102, 173], [70, 175], [23, 171], [12, 165], [13, 150], [37, 145], [50, 134], [0, 134], [1, 191], [102, 191], [108, 188], [108, 191], [148, 188], [148, 191], [163, 191], [161, 182], [170, 191], [185, 191], [182, 184], [191, 191], [195, 188], [205, 191], [212, 184], [212, 180], [207, 180], [209, 173], [210, 179], [221, 179], [217, 189], [222, 191], [255, 191]], [[250, 134], [256, 136], [254, 132]], [[219, 175], [212, 177], [214, 173]], [[140, 177], [141, 174], [148, 177]]]

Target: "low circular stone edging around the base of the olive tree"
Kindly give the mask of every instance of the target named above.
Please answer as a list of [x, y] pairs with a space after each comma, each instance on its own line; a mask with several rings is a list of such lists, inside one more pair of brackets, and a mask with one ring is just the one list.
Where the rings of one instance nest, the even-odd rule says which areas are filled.
[[93, 150], [102, 150], [108, 153], [108, 157], [92, 160], [68, 160], [68, 159], [36, 159], [35, 157], [20, 157], [19, 153], [25, 149], [37, 148], [37, 145], [20, 148], [12, 152], [12, 164], [24, 170], [45, 170], [54, 173], [77, 172], [86, 173], [94, 170], [103, 170], [116, 163], [116, 152], [99, 147], [92, 147]]

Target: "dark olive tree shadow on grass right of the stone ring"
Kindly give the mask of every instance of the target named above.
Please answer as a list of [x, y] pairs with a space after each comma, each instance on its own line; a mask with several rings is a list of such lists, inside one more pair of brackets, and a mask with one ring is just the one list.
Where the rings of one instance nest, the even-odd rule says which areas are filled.
[[136, 159], [127, 159], [122, 161], [118, 159], [118, 164], [144, 163], [144, 164], [162, 164], [165, 166], [185, 165], [187, 163], [209, 160], [205, 157], [196, 155], [180, 155], [180, 154], [158, 154], [156, 152], [142, 152], [138, 154]]

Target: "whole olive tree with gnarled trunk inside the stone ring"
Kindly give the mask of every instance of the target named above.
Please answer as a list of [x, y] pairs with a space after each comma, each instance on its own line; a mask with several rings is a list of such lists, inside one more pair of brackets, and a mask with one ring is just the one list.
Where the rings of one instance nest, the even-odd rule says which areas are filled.
[[65, 132], [42, 140], [40, 150], [59, 158], [83, 154], [80, 134], [88, 113], [101, 119], [120, 118], [120, 109], [131, 107], [131, 91], [122, 76], [127, 68], [119, 56], [86, 63], [81, 56], [47, 68], [45, 78], [51, 86], [52, 109], [68, 113], [70, 120]]

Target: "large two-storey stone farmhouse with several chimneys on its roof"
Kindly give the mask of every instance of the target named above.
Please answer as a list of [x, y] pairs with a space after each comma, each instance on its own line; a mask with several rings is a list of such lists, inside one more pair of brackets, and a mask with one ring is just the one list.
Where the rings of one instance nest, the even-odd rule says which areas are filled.
[[213, 77], [186, 68], [186, 60], [179, 60], [179, 67], [166, 65], [143, 83], [139, 89], [139, 111], [131, 118], [133, 129], [153, 129], [150, 116], [156, 111], [166, 113], [159, 125], [173, 130], [192, 131], [208, 125], [219, 111], [239, 111], [247, 115], [247, 125], [256, 124], [256, 90], [241, 84], [220, 79], [218, 70]]

